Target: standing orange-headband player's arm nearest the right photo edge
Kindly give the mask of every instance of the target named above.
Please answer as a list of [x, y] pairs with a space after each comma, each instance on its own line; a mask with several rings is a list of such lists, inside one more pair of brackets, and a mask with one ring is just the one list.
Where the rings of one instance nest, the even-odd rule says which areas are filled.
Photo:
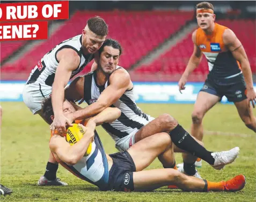
[[237, 61], [239, 61], [241, 65], [247, 89], [246, 96], [252, 102], [252, 105], [254, 107], [254, 102], [256, 103], [256, 94], [253, 89], [252, 71], [250, 63], [248, 61], [244, 47], [231, 29], [225, 29], [225, 32], [223, 33], [223, 42], [226, 47], [232, 52], [233, 57]]

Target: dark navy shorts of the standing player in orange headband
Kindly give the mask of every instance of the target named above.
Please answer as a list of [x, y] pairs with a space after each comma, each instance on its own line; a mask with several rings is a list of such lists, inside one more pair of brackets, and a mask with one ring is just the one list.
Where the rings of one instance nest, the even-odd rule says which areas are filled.
[[238, 75], [231, 79], [212, 79], [207, 78], [200, 91], [208, 92], [208, 94], [216, 95], [220, 98], [226, 96], [229, 102], [241, 102], [246, 97], [246, 85], [244, 76]]

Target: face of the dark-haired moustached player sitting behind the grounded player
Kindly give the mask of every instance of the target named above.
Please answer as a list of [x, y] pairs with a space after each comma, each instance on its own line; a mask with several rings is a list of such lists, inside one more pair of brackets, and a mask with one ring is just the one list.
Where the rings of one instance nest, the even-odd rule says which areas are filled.
[[99, 66], [106, 74], [111, 74], [119, 63], [119, 49], [112, 46], [105, 46], [100, 54]]

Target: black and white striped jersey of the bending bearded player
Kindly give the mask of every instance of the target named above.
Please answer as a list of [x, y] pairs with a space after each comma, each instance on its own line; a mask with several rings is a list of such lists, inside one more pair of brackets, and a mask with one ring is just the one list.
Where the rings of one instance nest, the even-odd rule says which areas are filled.
[[79, 66], [72, 71], [70, 79], [81, 72], [84, 67], [94, 58], [94, 54], [84, 55], [82, 51], [82, 34], [69, 38], [56, 45], [52, 50], [46, 53], [45, 56], [36, 64], [28, 77], [27, 84], [40, 83], [47, 86], [53, 86], [56, 69], [58, 66], [57, 52], [64, 48], [75, 50], [80, 56]]

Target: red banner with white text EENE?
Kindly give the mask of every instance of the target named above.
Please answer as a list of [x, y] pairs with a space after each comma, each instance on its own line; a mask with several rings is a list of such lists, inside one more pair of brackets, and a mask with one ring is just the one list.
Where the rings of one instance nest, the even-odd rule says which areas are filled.
[[4, 22], [0, 24], [0, 41], [47, 39], [48, 22]]

